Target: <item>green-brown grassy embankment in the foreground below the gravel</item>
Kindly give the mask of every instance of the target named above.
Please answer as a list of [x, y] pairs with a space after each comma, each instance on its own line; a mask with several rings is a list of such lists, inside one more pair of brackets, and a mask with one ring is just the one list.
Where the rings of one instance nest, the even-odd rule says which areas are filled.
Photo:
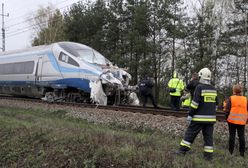
[[247, 159], [230, 156], [218, 138], [215, 158], [207, 162], [200, 139], [191, 154], [180, 157], [173, 154], [179, 137], [116, 123], [96, 125], [65, 114], [0, 108], [0, 167], [248, 167]]

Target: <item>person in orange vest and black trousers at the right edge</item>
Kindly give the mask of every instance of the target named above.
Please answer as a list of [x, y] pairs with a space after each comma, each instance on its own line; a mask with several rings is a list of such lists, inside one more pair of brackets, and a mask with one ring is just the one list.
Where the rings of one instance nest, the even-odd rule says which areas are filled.
[[242, 86], [233, 86], [233, 95], [226, 101], [226, 118], [229, 128], [229, 152], [233, 153], [236, 130], [239, 137], [240, 156], [245, 153], [245, 124], [247, 122], [247, 98], [242, 96]]

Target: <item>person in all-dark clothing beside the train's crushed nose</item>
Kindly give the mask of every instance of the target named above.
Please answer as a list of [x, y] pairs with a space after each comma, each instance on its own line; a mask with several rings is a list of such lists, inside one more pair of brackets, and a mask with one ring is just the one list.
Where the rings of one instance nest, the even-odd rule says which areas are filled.
[[153, 106], [155, 108], [158, 108], [157, 103], [154, 100], [154, 96], [152, 93], [153, 86], [154, 86], [153, 81], [149, 79], [148, 76], [145, 76], [139, 83], [140, 94], [143, 98], [143, 107], [146, 107], [147, 98], [150, 98]]

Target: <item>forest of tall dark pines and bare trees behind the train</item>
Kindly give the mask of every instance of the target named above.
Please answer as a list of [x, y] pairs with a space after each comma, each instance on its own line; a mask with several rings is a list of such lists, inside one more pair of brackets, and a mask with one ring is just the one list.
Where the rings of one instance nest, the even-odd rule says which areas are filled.
[[174, 70], [187, 84], [192, 72], [208, 67], [219, 94], [227, 95], [233, 84], [247, 84], [248, 2], [195, 1], [88, 0], [63, 13], [48, 6], [31, 23], [32, 45], [66, 40], [91, 46], [127, 68], [132, 84], [153, 76], [160, 103], [167, 101]]

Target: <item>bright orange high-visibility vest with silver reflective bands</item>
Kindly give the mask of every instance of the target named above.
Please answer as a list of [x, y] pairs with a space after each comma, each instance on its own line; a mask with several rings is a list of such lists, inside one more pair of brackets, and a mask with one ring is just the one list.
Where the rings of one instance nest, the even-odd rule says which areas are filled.
[[245, 96], [231, 96], [231, 110], [227, 121], [229, 123], [245, 125], [247, 121], [247, 99]]

